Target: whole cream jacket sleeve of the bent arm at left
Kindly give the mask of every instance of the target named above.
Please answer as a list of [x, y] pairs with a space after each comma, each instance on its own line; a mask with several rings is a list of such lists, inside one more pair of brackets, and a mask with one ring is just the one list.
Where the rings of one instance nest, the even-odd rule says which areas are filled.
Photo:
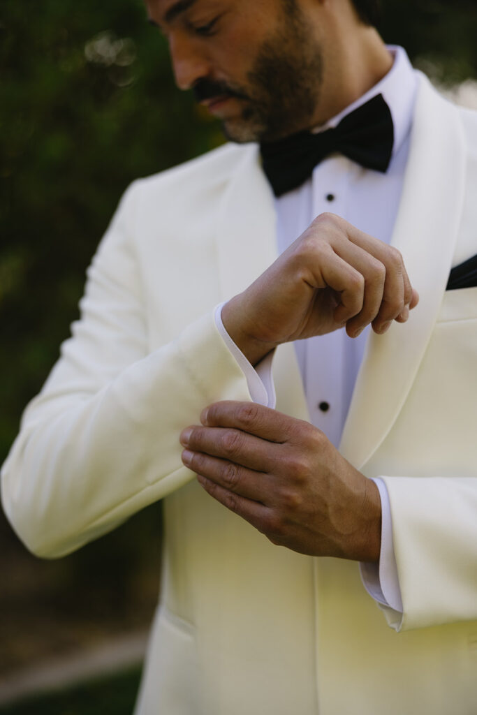
[[81, 317], [26, 408], [1, 471], [6, 516], [39, 556], [63, 556], [193, 478], [179, 435], [205, 405], [250, 400], [212, 310], [148, 352], [124, 195], [92, 266]]

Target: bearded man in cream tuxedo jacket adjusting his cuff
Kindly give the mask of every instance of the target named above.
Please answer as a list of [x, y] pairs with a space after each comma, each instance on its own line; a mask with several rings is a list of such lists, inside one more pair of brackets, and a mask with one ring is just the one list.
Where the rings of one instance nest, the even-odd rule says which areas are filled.
[[476, 117], [364, 3], [147, 8], [177, 84], [261, 157], [230, 144], [129, 189], [6, 513], [61, 556], [164, 498], [140, 715], [470, 715]]

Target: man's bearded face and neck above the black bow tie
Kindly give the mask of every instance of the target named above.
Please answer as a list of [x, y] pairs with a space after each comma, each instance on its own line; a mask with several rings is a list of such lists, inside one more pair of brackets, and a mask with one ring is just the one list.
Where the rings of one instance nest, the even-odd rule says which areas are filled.
[[[183, 5], [146, 0], [149, 20], [169, 43], [177, 87], [215, 83], [216, 96], [198, 99], [235, 141], [319, 126], [392, 65], [378, 33], [358, 22], [348, 0], [195, 0], [180, 11]], [[273, 115], [284, 102], [277, 126]], [[269, 116], [257, 122], [263, 112]]]

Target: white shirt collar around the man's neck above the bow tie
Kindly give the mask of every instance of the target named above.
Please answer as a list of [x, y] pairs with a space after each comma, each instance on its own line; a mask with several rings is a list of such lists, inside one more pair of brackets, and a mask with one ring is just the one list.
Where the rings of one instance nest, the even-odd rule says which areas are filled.
[[408, 55], [402, 47], [388, 46], [388, 51], [393, 56], [393, 66], [383, 79], [368, 90], [362, 97], [343, 109], [343, 112], [323, 124], [321, 127], [313, 129], [314, 133], [324, 132], [325, 129], [336, 127], [341, 119], [353, 112], [361, 104], [365, 104], [377, 94], [382, 94], [388, 104], [394, 124], [394, 147], [393, 156], [399, 151], [405, 137], [408, 136], [412, 123], [413, 109], [415, 103], [415, 93], [417, 89], [417, 79], [413, 66], [410, 64]]

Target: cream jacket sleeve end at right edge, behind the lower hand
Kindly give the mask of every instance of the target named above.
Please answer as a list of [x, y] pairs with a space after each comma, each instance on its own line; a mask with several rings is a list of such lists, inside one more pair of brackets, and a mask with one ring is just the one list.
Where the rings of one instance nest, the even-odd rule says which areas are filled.
[[477, 621], [477, 477], [383, 477], [403, 613], [398, 631]]

